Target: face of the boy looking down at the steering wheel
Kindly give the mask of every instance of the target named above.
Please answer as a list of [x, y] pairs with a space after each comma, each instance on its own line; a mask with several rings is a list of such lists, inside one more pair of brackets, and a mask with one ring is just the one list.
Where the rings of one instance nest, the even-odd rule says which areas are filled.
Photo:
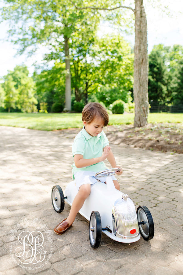
[[84, 120], [83, 124], [87, 133], [92, 137], [96, 137], [98, 134], [100, 134], [104, 127], [103, 119], [100, 117], [93, 119], [90, 123], [86, 123]]

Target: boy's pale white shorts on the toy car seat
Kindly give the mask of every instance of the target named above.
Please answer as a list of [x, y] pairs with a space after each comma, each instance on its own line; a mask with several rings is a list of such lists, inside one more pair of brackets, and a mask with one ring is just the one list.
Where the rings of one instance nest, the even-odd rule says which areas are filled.
[[[95, 174], [97, 172], [92, 172], [92, 171], [81, 171], [81, 172], [76, 172], [74, 173], [74, 178], [75, 178], [75, 182], [76, 182], [76, 187], [79, 190], [80, 186], [83, 184], [94, 184], [96, 183], [98, 180], [95, 178]], [[100, 178], [101, 182], [106, 182], [106, 178]], [[115, 178], [115, 176], [111, 176], [110, 178], [112, 178], [112, 180], [117, 180]]]

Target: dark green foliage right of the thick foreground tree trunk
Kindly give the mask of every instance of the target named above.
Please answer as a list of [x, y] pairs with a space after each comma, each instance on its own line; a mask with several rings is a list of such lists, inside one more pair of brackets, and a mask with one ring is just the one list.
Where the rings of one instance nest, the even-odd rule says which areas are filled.
[[183, 46], [154, 46], [149, 55], [149, 101], [183, 101]]

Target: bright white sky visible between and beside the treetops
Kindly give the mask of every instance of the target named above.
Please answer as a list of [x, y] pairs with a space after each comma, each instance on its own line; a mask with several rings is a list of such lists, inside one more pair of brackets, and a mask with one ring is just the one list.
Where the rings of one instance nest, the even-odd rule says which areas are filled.
[[[165, 46], [180, 44], [183, 46], [183, 2], [180, 0], [158, 1], [162, 4], [168, 4], [171, 15], [167, 15], [161, 9], [153, 9], [148, 1], [144, 0], [148, 25], [148, 53], [151, 52], [154, 45], [158, 44]], [[0, 6], [2, 6], [2, 2]], [[2, 22], [0, 24], [0, 78], [6, 75], [8, 70], [13, 70], [16, 65], [21, 64], [27, 65], [31, 75], [34, 71], [34, 66], [32, 66], [34, 61], [41, 63], [41, 51], [29, 58], [25, 54], [15, 56], [17, 52], [15, 45], [5, 41], [7, 29], [7, 23]], [[125, 39], [129, 40], [131, 45], [134, 46], [134, 37], [134, 35], [128, 35], [125, 36]]]

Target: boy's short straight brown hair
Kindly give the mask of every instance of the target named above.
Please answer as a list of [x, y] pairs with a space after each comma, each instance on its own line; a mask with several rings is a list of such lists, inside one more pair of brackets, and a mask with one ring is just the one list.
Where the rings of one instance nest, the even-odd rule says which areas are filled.
[[101, 117], [103, 119], [104, 126], [109, 123], [109, 115], [106, 109], [97, 102], [89, 102], [85, 105], [82, 111], [82, 120], [86, 123], [91, 123], [95, 117]]

